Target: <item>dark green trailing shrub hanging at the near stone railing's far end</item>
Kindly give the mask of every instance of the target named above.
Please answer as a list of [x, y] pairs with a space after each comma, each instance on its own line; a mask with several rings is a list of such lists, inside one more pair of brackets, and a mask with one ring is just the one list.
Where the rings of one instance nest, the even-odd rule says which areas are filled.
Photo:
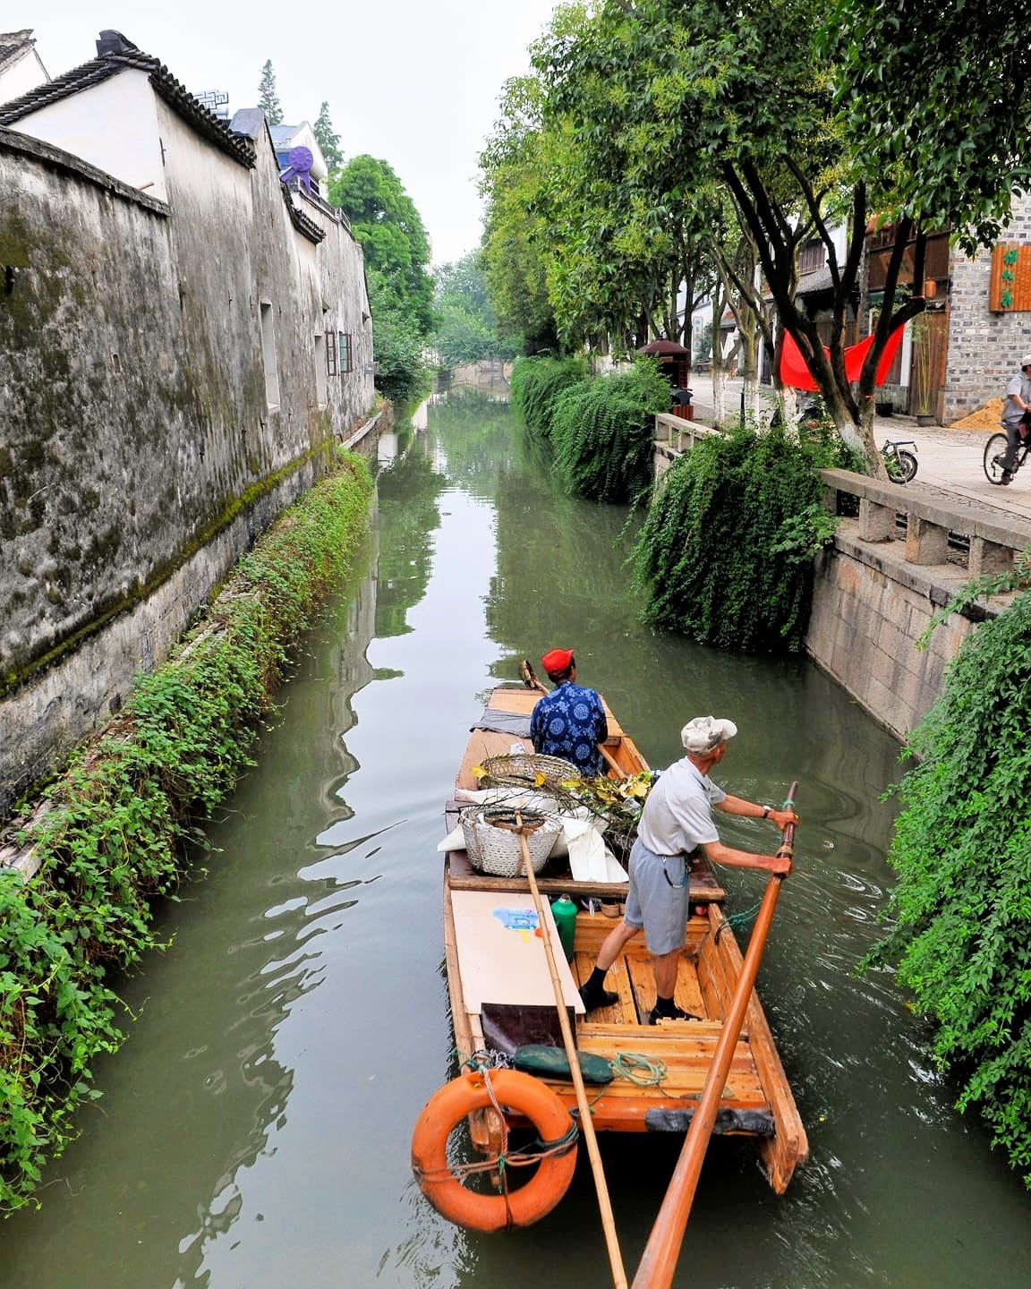
[[800, 650], [812, 557], [835, 526], [825, 464], [782, 428], [700, 438], [662, 476], [634, 547], [646, 616], [724, 647]]

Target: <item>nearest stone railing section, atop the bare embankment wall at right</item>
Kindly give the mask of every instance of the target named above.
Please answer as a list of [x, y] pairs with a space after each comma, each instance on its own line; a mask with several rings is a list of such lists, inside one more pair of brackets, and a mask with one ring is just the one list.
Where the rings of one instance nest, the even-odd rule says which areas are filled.
[[[851, 470], [821, 470], [827, 505], [840, 512], [842, 494], [858, 498], [857, 538], [865, 544], [894, 541], [898, 517], [905, 517], [905, 563], [943, 566], [956, 563], [955, 552], [969, 543], [967, 574], [1009, 572], [1014, 557], [1031, 547], [1031, 523], [1016, 516], [994, 516], [959, 500], [943, 500], [918, 487], [883, 483]], [[956, 539], [963, 539], [958, 541]]]

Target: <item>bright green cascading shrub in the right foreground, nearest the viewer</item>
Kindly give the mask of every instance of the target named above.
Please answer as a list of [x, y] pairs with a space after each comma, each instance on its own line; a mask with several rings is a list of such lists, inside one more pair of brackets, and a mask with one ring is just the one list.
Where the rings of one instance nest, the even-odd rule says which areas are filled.
[[1031, 1187], [1031, 593], [963, 644], [910, 737], [889, 853], [897, 964], [992, 1145]]

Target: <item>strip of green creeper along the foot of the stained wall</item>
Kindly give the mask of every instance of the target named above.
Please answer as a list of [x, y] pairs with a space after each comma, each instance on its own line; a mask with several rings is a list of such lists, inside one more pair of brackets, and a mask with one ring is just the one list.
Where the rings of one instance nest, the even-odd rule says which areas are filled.
[[371, 476], [351, 454], [246, 556], [173, 656], [0, 846], [0, 1210], [24, 1204], [121, 1043], [122, 973], [157, 946], [197, 830], [250, 763], [276, 686], [353, 563]]

